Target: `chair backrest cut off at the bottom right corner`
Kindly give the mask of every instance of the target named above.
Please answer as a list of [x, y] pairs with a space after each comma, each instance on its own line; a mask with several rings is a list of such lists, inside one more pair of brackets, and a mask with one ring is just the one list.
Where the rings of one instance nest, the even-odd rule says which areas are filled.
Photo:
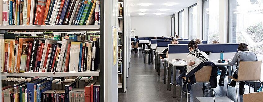
[[254, 92], [243, 95], [243, 102], [262, 102], [263, 92]]

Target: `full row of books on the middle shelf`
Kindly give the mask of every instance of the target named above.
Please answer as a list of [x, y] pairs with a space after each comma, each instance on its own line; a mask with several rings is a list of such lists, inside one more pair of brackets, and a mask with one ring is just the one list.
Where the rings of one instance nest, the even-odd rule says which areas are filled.
[[0, 39], [1, 72], [80, 72], [98, 69], [99, 38], [87, 41], [63, 39]]

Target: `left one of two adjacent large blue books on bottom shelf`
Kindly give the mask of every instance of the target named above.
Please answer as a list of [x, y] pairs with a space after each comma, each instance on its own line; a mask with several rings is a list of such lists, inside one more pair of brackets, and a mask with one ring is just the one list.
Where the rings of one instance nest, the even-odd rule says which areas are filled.
[[33, 82], [27, 83], [27, 86], [26, 86], [26, 88], [27, 88], [27, 102], [34, 102], [34, 98], [36, 98], [36, 97], [34, 97], [34, 95], [35, 95], [34, 91], [37, 88], [36, 85], [39, 83], [42, 83], [46, 80], [47, 80], [46, 78], [45, 79], [37, 79]]

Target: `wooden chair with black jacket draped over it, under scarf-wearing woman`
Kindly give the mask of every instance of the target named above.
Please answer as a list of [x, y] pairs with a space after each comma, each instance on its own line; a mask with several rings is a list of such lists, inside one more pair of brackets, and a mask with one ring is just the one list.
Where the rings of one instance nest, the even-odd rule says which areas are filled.
[[[212, 72], [212, 66], [204, 66], [202, 69], [194, 73], [196, 82], [203, 83], [203, 87], [204, 87], [205, 83], [209, 83], [211, 72]], [[186, 77], [182, 77], [182, 78], [186, 80]], [[184, 80], [182, 80], [182, 85]], [[188, 84], [191, 84], [189, 80], [188, 83], [186, 84], [186, 90], [188, 90]], [[212, 88], [212, 90], [213, 90], [213, 97], [215, 102], [214, 88]], [[183, 94], [183, 86], [181, 90], [181, 96], [182, 94]], [[203, 95], [205, 96], [205, 88], [203, 89]], [[188, 92], [186, 92], [186, 101], [188, 102]]]

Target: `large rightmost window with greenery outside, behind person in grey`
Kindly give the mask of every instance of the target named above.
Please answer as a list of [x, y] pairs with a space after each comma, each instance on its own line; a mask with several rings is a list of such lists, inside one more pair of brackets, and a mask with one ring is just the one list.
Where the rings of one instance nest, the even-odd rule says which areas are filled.
[[229, 43], [247, 43], [263, 60], [263, 2], [229, 0]]

